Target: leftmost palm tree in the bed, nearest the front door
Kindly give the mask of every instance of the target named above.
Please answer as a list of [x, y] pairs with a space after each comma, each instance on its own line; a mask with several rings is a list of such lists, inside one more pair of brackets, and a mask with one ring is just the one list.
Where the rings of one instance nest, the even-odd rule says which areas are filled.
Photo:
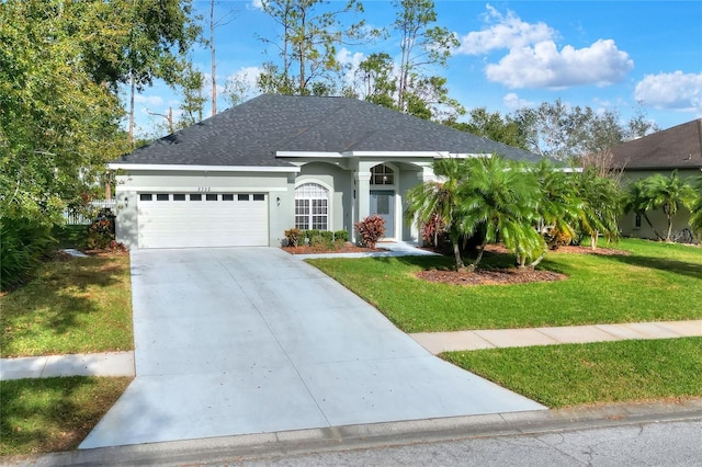
[[417, 221], [422, 226], [432, 219], [440, 219], [451, 240], [456, 271], [465, 267], [461, 258], [461, 240], [467, 232], [461, 221], [461, 186], [467, 176], [463, 160], [440, 159], [433, 164], [434, 173], [443, 182], [427, 182], [407, 192], [405, 221]]

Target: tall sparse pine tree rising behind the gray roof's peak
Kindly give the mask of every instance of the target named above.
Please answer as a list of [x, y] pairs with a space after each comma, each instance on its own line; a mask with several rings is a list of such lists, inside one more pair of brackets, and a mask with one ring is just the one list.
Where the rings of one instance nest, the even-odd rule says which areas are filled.
[[[337, 61], [339, 44], [358, 41], [363, 21], [344, 25], [343, 18], [362, 12], [358, 0], [339, 9], [328, 0], [261, 0], [262, 9], [279, 24], [276, 39], [262, 38], [278, 49], [281, 65], [269, 62], [259, 79], [261, 90], [285, 94], [312, 94], [336, 89], [341, 70]], [[313, 84], [316, 83], [316, 87]]]

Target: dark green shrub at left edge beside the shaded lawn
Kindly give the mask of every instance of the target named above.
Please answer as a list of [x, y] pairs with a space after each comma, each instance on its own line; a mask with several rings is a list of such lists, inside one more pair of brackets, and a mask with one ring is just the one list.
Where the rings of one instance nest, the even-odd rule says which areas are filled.
[[29, 281], [55, 246], [49, 225], [4, 217], [0, 221], [0, 289], [7, 291]]

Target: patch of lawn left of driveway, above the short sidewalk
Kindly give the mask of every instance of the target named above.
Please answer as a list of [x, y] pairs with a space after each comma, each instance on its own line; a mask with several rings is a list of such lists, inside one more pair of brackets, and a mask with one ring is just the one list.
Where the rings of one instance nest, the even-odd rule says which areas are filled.
[[134, 349], [126, 254], [46, 262], [0, 308], [2, 357]]

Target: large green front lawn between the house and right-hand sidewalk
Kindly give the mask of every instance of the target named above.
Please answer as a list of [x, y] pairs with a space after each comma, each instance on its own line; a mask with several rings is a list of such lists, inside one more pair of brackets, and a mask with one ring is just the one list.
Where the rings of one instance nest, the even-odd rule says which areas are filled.
[[[550, 253], [541, 269], [566, 281], [455, 286], [419, 280], [449, 258], [308, 260], [406, 332], [532, 328], [702, 318], [702, 248], [627, 239], [627, 257]], [[513, 264], [486, 255], [485, 266]]]

